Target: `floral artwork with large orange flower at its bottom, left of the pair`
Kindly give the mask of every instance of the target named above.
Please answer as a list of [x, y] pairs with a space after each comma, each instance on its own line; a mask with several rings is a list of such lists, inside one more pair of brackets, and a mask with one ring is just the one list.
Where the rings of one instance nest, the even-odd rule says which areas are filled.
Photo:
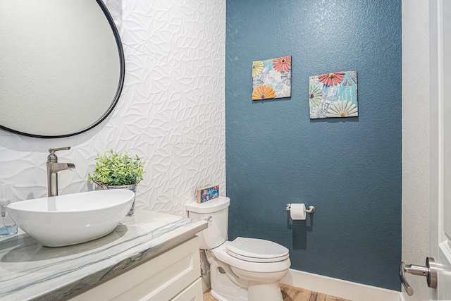
[[252, 62], [252, 100], [291, 97], [291, 56]]

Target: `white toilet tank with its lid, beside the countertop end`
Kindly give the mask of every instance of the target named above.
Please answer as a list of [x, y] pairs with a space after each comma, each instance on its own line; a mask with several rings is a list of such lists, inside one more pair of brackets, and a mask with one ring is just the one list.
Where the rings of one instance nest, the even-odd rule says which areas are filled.
[[209, 227], [198, 234], [200, 249], [213, 249], [227, 240], [229, 204], [228, 197], [216, 197], [201, 204], [186, 205], [190, 218], [209, 222]]

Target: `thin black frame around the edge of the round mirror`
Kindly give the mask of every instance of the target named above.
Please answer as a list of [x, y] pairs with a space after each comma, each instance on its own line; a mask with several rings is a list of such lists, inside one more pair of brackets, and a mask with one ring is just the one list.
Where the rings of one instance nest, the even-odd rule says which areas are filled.
[[101, 0], [95, 0], [95, 1], [100, 6], [101, 11], [104, 12], [106, 20], [108, 20], [108, 23], [109, 23], [109, 25], [111, 27], [111, 30], [113, 30], [113, 35], [114, 35], [114, 37], [116, 39], [116, 45], [118, 47], [118, 52], [119, 52], [119, 65], [120, 65], [119, 83], [118, 83], [118, 88], [116, 90], [116, 94], [115, 94], [115, 96], [114, 96], [109, 108], [104, 112], [104, 114], [97, 121], [92, 123], [92, 125], [88, 125], [87, 128], [85, 128], [85, 130], [80, 130], [80, 131], [78, 131], [76, 133], [70, 133], [70, 134], [64, 134], [64, 135], [36, 135], [36, 134], [30, 134], [30, 133], [23, 133], [23, 132], [20, 132], [18, 130], [13, 130], [11, 128], [6, 128], [3, 125], [0, 125], [0, 129], [6, 130], [8, 132], [15, 133], [15, 134], [18, 134], [18, 135], [25, 135], [25, 136], [28, 136], [28, 137], [35, 137], [35, 138], [46, 138], [46, 139], [49, 139], [49, 138], [70, 137], [70, 136], [75, 136], [75, 135], [78, 135], [78, 134], [81, 134], [81, 133], [85, 133], [87, 130], [91, 130], [95, 126], [99, 125], [99, 123], [104, 121], [105, 118], [107, 116], [109, 116], [111, 111], [113, 111], [114, 107], [118, 103], [119, 97], [121, 97], [121, 92], [122, 92], [123, 85], [124, 85], [124, 78], [125, 78], [124, 50], [123, 50], [123, 46], [122, 46], [122, 42], [121, 42], [121, 37], [119, 36], [118, 28], [116, 27], [116, 24], [114, 24], [113, 17], [111, 17], [111, 14], [108, 11], [108, 8], [106, 8], [106, 5], [104, 4], [103, 1], [101, 1]]

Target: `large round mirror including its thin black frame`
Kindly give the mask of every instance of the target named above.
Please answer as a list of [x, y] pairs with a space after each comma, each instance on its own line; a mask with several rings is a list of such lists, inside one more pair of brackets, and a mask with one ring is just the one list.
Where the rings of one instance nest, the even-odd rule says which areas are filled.
[[0, 28], [1, 129], [68, 137], [111, 113], [125, 59], [101, 0], [1, 1]]

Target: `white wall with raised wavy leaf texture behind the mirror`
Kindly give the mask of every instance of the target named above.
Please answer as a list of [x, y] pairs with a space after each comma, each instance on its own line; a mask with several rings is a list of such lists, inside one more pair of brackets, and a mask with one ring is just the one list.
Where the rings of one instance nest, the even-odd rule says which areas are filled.
[[[125, 85], [113, 113], [73, 137], [37, 139], [0, 130], [0, 181], [14, 200], [47, 195], [48, 149], [73, 172], [59, 173], [59, 193], [91, 189], [87, 173], [105, 149], [129, 149], [146, 162], [137, 209], [185, 215], [195, 189], [226, 193], [226, 0], [108, 0], [125, 51]], [[87, 108], [89, 110], [89, 108]]]

